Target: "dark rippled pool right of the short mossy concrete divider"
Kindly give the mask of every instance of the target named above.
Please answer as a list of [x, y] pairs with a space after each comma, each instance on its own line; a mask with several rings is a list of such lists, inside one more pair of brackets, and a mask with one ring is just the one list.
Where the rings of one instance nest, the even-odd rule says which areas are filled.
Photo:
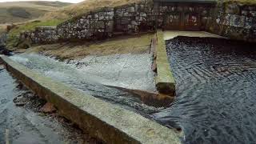
[[216, 38], [166, 42], [177, 99], [154, 114], [184, 143], [256, 143], [256, 45]]

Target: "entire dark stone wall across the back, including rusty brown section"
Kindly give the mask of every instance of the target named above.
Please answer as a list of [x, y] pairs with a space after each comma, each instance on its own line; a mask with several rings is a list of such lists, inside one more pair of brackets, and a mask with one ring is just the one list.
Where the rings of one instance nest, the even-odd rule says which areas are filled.
[[227, 38], [256, 42], [256, 6], [237, 2], [188, 3], [145, 0], [105, 7], [82, 14], [57, 27], [38, 27], [21, 34], [21, 41], [54, 43], [110, 38], [164, 30], [206, 30]]

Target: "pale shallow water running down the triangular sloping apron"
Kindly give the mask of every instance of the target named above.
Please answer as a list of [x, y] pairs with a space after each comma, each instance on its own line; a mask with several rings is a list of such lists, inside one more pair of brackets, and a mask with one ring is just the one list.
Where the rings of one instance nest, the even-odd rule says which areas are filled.
[[145, 105], [136, 94], [113, 87], [155, 91], [150, 54], [91, 56], [69, 64], [38, 54], [19, 54], [10, 58], [58, 82], [146, 117], [158, 110]]

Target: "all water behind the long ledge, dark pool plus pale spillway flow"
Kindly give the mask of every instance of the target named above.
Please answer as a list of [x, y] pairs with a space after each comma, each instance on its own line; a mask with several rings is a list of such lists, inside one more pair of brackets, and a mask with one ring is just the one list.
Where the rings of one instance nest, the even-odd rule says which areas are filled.
[[184, 143], [256, 143], [255, 44], [179, 37], [166, 42], [166, 48], [177, 82], [177, 98], [166, 108], [147, 106], [134, 94], [110, 87], [154, 91], [150, 54], [87, 58], [69, 64], [38, 54], [11, 58], [86, 94], [164, 126], [181, 128]]

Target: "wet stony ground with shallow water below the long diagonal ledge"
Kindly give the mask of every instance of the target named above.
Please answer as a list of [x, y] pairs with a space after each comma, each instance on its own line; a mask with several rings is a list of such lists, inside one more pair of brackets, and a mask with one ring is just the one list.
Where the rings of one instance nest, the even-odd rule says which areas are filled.
[[57, 113], [42, 113], [46, 102], [2, 66], [0, 80], [0, 143], [99, 143]]

